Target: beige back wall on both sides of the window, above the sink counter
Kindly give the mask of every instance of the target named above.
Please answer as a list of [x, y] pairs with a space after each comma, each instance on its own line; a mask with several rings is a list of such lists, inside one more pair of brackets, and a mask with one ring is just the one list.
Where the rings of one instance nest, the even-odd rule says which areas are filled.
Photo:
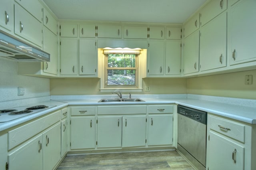
[[[150, 91], [133, 94], [184, 94], [187, 93], [187, 79], [143, 79], [142, 87]], [[50, 79], [51, 95], [106, 95], [101, 93], [100, 79]], [[124, 93], [126, 94], [126, 93]]]

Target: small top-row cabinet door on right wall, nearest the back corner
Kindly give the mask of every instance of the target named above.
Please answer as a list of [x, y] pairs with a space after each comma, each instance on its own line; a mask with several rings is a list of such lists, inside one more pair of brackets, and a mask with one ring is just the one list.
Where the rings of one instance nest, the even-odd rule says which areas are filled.
[[184, 38], [199, 29], [199, 14], [195, 14], [184, 25]]

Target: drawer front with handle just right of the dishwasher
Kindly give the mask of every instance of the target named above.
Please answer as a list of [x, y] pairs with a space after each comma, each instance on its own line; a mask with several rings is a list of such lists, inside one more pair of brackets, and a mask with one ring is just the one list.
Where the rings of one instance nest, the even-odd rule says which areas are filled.
[[234, 138], [239, 140], [240, 142], [244, 142], [244, 133], [245, 126], [240, 125], [239, 123], [228, 121], [224, 119], [220, 119], [214, 116], [208, 117], [208, 126], [210, 129], [219, 132], [220, 134], [224, 134], [229, 136], [230, 138]]

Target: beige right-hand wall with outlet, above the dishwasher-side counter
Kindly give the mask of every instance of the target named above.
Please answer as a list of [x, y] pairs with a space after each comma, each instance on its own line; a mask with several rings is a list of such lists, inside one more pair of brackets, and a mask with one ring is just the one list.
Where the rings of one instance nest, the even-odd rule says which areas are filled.
[[[245, 75], [252, 75], [252, 85], [245, 85]], [[188, 79], [188, 93], [256, 99], [256, 70], [194, 77]]]

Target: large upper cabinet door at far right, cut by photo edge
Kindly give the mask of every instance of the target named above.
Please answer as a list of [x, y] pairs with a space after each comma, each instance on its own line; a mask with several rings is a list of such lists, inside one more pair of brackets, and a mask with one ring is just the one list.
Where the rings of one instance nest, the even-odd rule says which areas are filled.
[[230, 65], [256, 60], [256, 1], [240, 0], [230, 10]]

